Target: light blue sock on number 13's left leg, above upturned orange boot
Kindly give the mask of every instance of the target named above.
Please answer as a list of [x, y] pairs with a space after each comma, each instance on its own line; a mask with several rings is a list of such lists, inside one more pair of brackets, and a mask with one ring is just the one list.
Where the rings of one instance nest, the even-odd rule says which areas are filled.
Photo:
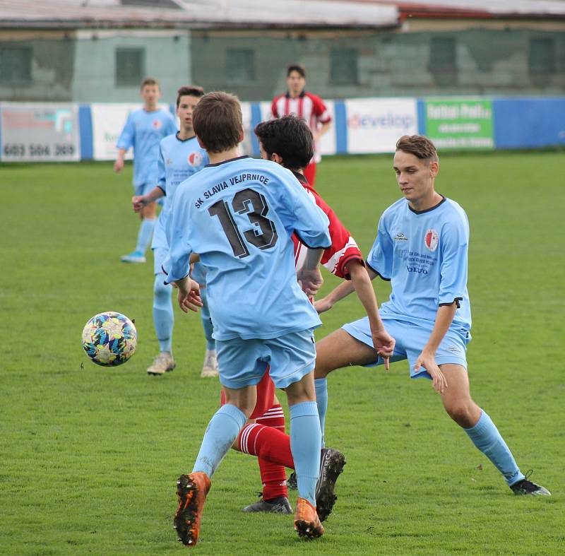
[[245, 413], [230, 403], [218, 409], [208, 423], [192, 472], [203, 471], [211, 478], [245, 422]]

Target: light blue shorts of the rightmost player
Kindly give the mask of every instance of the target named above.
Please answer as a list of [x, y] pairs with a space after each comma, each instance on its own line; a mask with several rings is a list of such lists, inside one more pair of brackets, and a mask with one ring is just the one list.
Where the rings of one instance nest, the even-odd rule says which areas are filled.
[[[395, 319], [383, 318], [383, 324], [386, 331], [396, 340], [394, 346], [394, 353], [391, 357], [391, 362], [402, 361], [408, 359], [410, 365], [410, 378], [417, 379], [425, 377], [431, 379], [427, 370], [420, 367], [420, 372], [414, 371], [414, 365], [418, 355], [422, 353], [424, 345], [429, 340], [432, 333], [433, 326], [429, 327], [419, 326], [407, 321], [397, 321]], [[373, 347], [373, 340], [371, 338], [371, 329], [369, 328], [369, 319], [359, 319], [358, 321], [349, 322], [342, 326], [350, 336], [359, 340], [371, 348]], [[436, 363], [438, 365], [446, 365], [452, 363], [454, 365], [461, 365], [467, 368], [467, 344], [471, 341], [470, 333], [462, 331], [457, 333], [453, 330], [448, 330], [444, 339], [439, 344], [436, 351]], [[374, 367], [374, 365], [382, 365], [383, 359], [379, 357], [374, 363], [364, 365], [364, 367]]]

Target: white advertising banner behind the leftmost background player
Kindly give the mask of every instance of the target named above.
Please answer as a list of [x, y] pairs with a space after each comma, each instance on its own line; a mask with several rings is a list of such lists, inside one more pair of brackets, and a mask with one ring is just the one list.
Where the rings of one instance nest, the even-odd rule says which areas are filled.
[[[159, 105], [162, 110], [170, 110], [169, 105]], [[95, 102], [90, 105], [93, 121], [93, 158], [94, 160], [116, 160], [118, 142], [121, 130], [133, 110], [141, 108], [136, 104], [106, 104]], [[178, 122], [177, 122], [178, 123]], [[126, 160], [133, 158], [132, 149], [126, 153]]]

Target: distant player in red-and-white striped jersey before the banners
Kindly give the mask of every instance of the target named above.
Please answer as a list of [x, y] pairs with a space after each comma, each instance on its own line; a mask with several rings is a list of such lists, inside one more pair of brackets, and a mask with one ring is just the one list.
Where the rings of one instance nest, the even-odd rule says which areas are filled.
[[292, 64], [287, 68], [288, 90], [284, 95], [273, 99], [271, 112], [273, 118], [280, 118], [289, 114], [296, 114], [304, 119], [314, 136], [314, 155], [304, 169], [304, 176], [311, 186], [316, 182], [316, 163], [320, 162], [321, 155], [316, 152], [316, 143], [325, 134], [331, 125], [331, 116], [326, 105], [319, 96], [306, 90], [306, 69], [301, 64]]

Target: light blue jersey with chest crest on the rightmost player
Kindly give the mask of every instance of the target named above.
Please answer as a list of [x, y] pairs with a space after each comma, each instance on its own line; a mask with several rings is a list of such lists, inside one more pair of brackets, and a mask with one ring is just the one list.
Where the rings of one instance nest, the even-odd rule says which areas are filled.
[[391, 297], [381, 304], [381, 317], [433, 326], [438, 307], [457, 301], [450, 330], [467, 338], [468, 244], [467, 215], [451, 199], [421, 212], [412, 210], [405, 199], [388, 207], [367, 257], [374, 271], [391, 280]]

